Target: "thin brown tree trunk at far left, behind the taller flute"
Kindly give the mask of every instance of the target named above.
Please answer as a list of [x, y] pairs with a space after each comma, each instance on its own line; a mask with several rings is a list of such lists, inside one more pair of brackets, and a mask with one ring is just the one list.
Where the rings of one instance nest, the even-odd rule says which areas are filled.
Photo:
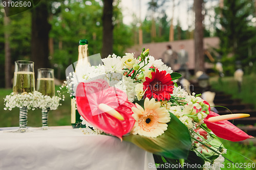
[[[5, 8], [6, 13], [7, 10], [9, 10], [8, 7]], [[5, 15], [4, 17], [4, 26], [7, 27], [10, 24], [11, 20], [10, 17], [7, 17]], [[11, 79], [13, 77], [12, 75], [12, 70], [11, 70], [11, 48], [10, 48], [10, 33], [8, 32], [7, 29], [5, 29], [5, 88], [11, 88], [12, 83]]]

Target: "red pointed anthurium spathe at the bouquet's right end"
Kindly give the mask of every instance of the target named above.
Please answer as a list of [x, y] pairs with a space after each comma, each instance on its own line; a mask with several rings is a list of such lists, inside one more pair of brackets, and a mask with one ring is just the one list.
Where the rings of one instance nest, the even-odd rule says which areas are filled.
[[219, 116], [219, 114], [210, 111], [210, 114], [204, 119], [204, 123], [212, 132], [214, 132], [214, 134], [216, 134], [216, 136], [230, 141], [241, 141], [248, 138], [253, 138], [252, 136], [247, 135], [238, 127], [228, 122], [228, 120], [215, 123], [209, 122], [208, 118], [212, 116]]

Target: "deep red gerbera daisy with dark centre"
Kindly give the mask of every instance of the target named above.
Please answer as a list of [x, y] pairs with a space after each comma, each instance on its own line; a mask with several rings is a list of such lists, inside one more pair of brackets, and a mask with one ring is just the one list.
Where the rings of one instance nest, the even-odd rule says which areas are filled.
[[151, 73], [152, 78], [146, 77], [146, 81], [143, 83], [143, 90], [145, 91], [145, 97], [160, 100], [169, 100], [170, 94], [173, 93], [174, 83], [170, 74], [166, 74], [166, 71], [159, 71]]

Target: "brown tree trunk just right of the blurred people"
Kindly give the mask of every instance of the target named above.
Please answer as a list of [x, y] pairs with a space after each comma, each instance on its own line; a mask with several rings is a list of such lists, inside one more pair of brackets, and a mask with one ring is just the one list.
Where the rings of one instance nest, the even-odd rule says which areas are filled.
[[204, 71], [204, 49], [203, 49], [203, 0], [194, 0], [195, 7], [195, 72]]

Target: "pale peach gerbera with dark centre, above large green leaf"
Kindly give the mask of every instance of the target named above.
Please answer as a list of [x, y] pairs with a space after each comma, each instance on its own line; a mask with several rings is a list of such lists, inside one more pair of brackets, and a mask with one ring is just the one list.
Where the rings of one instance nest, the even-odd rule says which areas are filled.
[[160, 102], [148, 98], [144, 101], [145, 109], [136, 103], [136, 107], [132, 108], [134, 112], [132, 116], [136, 120], [132, 133], [147, 137], [157, 137], [163, 134], [167, 130], [170, 115], [164, 107], [160, 106]]

